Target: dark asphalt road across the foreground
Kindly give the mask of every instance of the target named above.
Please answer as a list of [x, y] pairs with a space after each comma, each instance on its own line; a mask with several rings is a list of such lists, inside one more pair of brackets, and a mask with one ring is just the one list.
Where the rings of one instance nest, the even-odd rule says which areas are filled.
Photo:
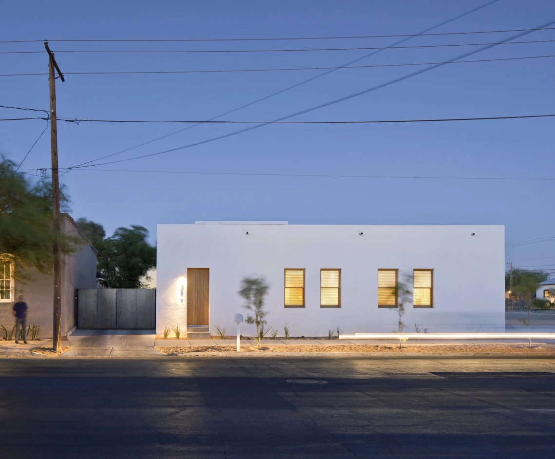
[[6, 359], [0, 410], [18, 459], [549, 458], [555, 360]]

